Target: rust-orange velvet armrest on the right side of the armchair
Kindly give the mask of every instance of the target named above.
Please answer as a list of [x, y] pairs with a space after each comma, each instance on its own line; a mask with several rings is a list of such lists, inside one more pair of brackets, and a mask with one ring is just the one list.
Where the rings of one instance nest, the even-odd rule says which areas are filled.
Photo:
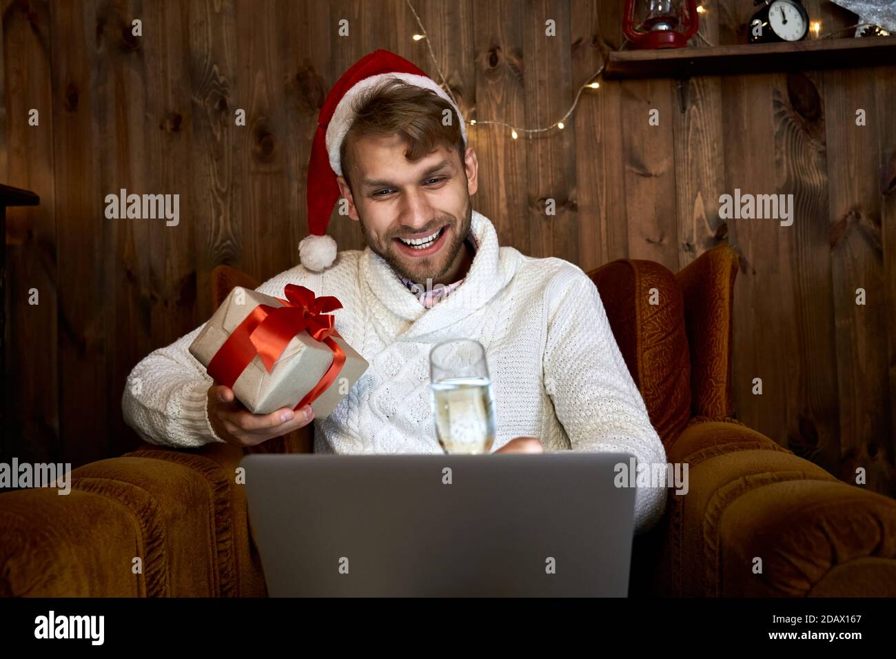
[[733, 420], [695, 419], [668, 460], [689, 482], [659, 536], [663, 594], [896, 595], [896, 501]]

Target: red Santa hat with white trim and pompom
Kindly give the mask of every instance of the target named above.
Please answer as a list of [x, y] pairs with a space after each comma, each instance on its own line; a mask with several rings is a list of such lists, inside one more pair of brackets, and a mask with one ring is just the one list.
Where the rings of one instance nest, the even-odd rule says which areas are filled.
[[463, 143], [467, 143], [467, 126], [464, 125], [461, 110], [432, 78], [404, 57], [388, 50], [375, 50], [361, 57], [333, 85], [317, 117], [306, 188], [308, 229], [311, 235], [298, 244], [299, 260], [309, 270], [324, 270], [336, 258], [336, 241], [326, 235], [326, 230], [333, 206], [340, 197], [336, 182], [336, 177], [342, 176], [340, 146], [355, 122], [355, 101], [362, 91], [388, 78], [397, 78], [401, 82], [435, 91], [447, 100], [461, 122]]

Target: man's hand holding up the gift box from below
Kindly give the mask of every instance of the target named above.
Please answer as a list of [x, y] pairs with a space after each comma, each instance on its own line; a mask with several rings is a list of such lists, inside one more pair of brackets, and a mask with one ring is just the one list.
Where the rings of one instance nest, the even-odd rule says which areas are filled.
[[237, 401], [233, 389], [224, 385], [209, 387], [208, 398], [211, 427], [218, 437], [237, 447], [254, 447], [302, 428], [314, 419], [311, 405], [296, 411], [284, 407], [270, 414], [253, 414]]

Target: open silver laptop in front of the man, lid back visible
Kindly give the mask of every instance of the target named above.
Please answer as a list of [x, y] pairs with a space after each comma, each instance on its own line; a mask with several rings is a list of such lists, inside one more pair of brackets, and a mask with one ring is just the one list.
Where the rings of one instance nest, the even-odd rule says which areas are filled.
[[272, 597], [625, 597], [628, 455], [247, 455]]

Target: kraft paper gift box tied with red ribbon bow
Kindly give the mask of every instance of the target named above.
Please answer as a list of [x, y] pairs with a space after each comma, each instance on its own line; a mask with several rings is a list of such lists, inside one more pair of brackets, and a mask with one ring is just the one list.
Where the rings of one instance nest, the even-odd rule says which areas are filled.
[[284, 294], [280, 299], [237, 286], [190, 353], [250, 412], [310, 403], [314, 418], [324, 419], [368, 364], [333, 326], [328, 312], [342, 307], [338, 299], [315, 298], [312, 290], [295, 284]]

